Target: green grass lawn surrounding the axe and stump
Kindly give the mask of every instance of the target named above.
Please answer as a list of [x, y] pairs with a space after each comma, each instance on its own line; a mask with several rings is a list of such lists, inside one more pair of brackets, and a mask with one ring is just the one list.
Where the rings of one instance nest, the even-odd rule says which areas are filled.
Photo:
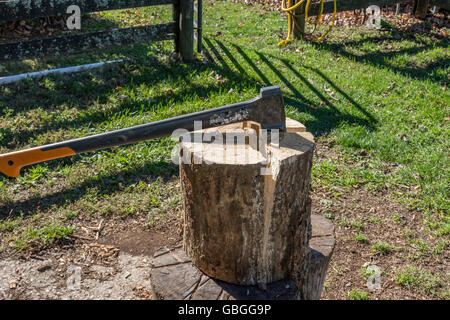
[[[172, 14], [136, 10], [93, 15], [83, 28]], [[324, 42], [280, 49], [285, 29], [278, 12], [205, 1], [205, 53], [193, 64], [179, 62], [170, 41], [1, 64], [0, 76], [125, 59], [101, 72], [0, 87], [0, 153], [235, 103], [278, 85], [287, 115], [316, 137], [313, 211], [336, 226], [324, 298], [448, 299], [448, 38], [395, 25], [336, 27]], [[174, 146], [153, 140], [0, 176], [1, 254], [59, 245], [86, 221], [138, 220], [152, 230], [168, 213], [180, 216]], [[383, 292], [364, 287], [369, 260], [384, 271]]]

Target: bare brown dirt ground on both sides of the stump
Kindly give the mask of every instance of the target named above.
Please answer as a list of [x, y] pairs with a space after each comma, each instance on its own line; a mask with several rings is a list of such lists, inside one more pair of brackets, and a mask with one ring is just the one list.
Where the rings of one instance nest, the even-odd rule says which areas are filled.
[[[318, 145], [314, 161], [339, 157]], [[338, 194], [339, 196], [336, 196]], [[414, 265], [430, 274], [449, 274], [449, 254], [423, 251], [414, 239], [432, 248], [436, 240], [424, 225], [421, 212], [404, 208], [388, 193], [363, 188], [313, 187], [312, 213], [325, 215], [335, 225], [336, 247], [322, 299], [347, 299], [353, 289], [370, 299], [436, 299], [419, 287], [396, 283], [396, 272]], [[395, 221], [393, 217], [395, 215]], [[94, 226], [94, 227], [92, 227]], [[95, 226], [102, 226], [96, 228]], [[101, 232], [99, 231], [101, 230]], [[70, 243], [0, 257], [0, 299], [152, 299], [150, 268], [159, 247], [175, 247], [182, 240], [180, 217], [168, 213], [156, 227], [138, 218], [89, 221], [77, 228]], [[363, 234], [364, 241], [355, 235]], [[376, 242], [389, 251], [373, 250]], [[381, 288], [370, 291], [361, 270], [377, 266]], [[448, 290], [448, 288], [434, 288]]]

